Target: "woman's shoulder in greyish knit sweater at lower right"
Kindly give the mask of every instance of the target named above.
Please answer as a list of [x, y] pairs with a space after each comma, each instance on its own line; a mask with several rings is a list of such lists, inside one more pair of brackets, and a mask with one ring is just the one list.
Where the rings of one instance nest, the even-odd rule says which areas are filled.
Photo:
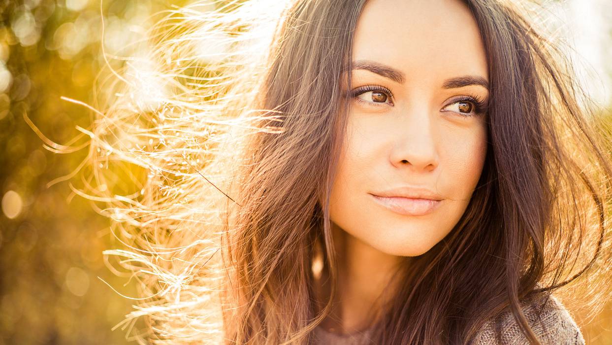
[[[584, 344], [580, 327], [561, 301], [553, 295], [548, 299], [524, 301], [522, 310], [543, 345]], [[508, 310], [497, 319], [487, 322], [474, 344], [529, 344], [529, 342], [514, 320], [512, 312]]]

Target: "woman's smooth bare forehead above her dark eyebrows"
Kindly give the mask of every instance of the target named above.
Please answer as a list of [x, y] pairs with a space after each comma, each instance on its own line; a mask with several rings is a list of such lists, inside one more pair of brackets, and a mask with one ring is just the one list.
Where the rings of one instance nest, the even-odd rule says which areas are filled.
[[395, 67], [408, 82], [488, 78], [476, 20], [460, 0], [369, 0], [354, 36], [353, 61], [360, 59]]

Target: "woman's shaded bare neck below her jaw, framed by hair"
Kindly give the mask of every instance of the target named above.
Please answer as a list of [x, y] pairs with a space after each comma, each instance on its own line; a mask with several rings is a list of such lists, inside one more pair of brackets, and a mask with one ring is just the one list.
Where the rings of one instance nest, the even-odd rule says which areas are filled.
[[[352, 333], [367, 328], [375, 321], [389, 298], [398, 265], [406, 258], [386, 254], [353, 237], [332, 223], [337, 253], [337, 294], [332, 311], [322, 326], [331, 332]], [[329, 299], [329, 271], [321, 271], [319, 294]]]

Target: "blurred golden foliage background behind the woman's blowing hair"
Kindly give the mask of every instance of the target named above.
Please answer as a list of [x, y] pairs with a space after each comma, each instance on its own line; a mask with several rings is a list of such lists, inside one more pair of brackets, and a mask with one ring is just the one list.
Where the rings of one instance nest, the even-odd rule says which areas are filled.
[[[92, 114], [60, 96], [94, 102], [102, 45], [109, 56], [127, 55], [124, 48], [144, 32], [147, 18], [184, 4], [0, 2], [0, 345], [129, 342], [127, 330], [111, 328], [132, 301], [101, 280], [135, 296], [135, 286], [105, 267], [102, 251], [119, 246], [108, 219], [74, 197], [70, 184], [47, 186], [73, 172], [86, 152], [45, 150], [24, 115], [54, 142], [69, 142], [75, 126], [89, 127]], [[610, 308], [597, 320], [577, 320], [589, 343], [612, 344]]]

